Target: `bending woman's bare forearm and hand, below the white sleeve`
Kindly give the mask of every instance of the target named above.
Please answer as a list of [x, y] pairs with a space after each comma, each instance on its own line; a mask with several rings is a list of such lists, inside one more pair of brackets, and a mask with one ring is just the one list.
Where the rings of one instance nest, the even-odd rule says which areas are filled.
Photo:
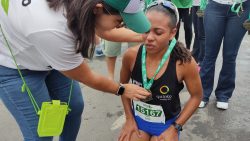
[[[85, 61], [72, 70], [61, 72], [71, 79], [100, 91], [116, 93], [119, 88], [118, 83], [92, 71]], [[133, 84], [124, 84], [124, 87], [125, 91], [123, 96], [130, 99], [144, 99], [149, 95], [146, 90]]]

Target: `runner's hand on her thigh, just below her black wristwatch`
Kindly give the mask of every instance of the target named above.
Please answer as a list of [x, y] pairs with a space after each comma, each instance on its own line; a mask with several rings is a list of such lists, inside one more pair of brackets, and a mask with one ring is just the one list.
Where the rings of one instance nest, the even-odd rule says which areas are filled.
[[178, 141], [178, 132], [173, 127], [170, 126], [157, 138], [157, 141]]

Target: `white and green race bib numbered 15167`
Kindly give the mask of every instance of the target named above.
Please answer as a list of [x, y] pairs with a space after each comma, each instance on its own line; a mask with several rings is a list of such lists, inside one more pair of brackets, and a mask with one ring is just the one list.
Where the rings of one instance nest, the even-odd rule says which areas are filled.
[[145, 121], [165, 124], [165, 114], [161, 106], [151, 105], [141, 101], [133, 101], [135, 116]]

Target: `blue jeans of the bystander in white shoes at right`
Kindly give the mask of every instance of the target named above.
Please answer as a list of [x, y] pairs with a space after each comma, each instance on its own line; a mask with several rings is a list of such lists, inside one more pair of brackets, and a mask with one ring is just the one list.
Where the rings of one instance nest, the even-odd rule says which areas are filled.
[[235, 88], [236, 57], [246, 33], [242, 24], [248, 18], [250, 0], [243, 3], [244, 12], [240, 17], [231, 12], [230, 7], [210, 0], [205, 10], [205, 57], [200, 71], [205, 102], [213, 91], [215, 62], [222, 41], [223, 62], [215, 90], [217, 101], [228, 102]]

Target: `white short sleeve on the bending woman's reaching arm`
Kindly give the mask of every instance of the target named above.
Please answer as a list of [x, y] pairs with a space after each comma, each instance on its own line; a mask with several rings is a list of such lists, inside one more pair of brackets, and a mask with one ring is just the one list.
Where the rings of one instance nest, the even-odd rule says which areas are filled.
[[72, 35], [66, 31], [36, 31], [27, 38], [53, 69], [67, 71], [83, 62], [81, 54], [76, 53]]

